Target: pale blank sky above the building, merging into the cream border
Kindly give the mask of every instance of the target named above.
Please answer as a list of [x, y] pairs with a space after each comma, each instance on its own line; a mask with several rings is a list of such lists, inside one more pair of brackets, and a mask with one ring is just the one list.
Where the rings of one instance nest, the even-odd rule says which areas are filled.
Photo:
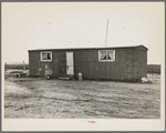
[[2, 58], [29, 61], [28, 50], [138, 45], [148, 64], [165, 53], [164, 2], [2, 2]]

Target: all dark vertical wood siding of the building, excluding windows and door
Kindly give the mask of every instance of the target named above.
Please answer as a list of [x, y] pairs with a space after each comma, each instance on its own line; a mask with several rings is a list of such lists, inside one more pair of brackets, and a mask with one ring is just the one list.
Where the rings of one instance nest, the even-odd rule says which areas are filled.
[[[66, 50], [52, 51], [52, 62], [41, 62], [40, 52], [29, 54], [30, 74], [44, 75], [45, 64], [53, 70], [53, 76], [66, 76]], [[100, 62], [97, 50], [72, 50], [74, 76], [81, 71], [83, 79], [135, 80], [146, 76], [147, 52], [139, 49], [115, 49], [114, 62]], [[39, 72], [39, 69], [42, 71]]]

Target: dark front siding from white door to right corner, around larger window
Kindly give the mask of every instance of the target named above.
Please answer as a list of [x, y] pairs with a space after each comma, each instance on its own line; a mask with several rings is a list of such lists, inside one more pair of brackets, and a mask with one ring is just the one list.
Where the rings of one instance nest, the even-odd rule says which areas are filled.
[[98, 50], [75, 51], [75, 75], [81, 71], [84, 79], [124, 80], [127, 66], [126, 51], [116, 50], [114, 62], [100, 62]]

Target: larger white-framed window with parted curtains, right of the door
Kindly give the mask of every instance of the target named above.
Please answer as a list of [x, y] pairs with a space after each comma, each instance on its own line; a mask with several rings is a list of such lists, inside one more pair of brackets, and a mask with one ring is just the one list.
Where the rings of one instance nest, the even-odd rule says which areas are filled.
[[115, 50], [101, 50], [98, 51], [98, 61], [115, 61]]

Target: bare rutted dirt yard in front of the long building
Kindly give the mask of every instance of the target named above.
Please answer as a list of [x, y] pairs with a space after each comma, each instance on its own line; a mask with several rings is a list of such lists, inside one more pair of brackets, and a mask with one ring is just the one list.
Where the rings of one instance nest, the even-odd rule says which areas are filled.
[[159, 119], [160, 75], [153, 83], [7, 78], [4, 119]]

